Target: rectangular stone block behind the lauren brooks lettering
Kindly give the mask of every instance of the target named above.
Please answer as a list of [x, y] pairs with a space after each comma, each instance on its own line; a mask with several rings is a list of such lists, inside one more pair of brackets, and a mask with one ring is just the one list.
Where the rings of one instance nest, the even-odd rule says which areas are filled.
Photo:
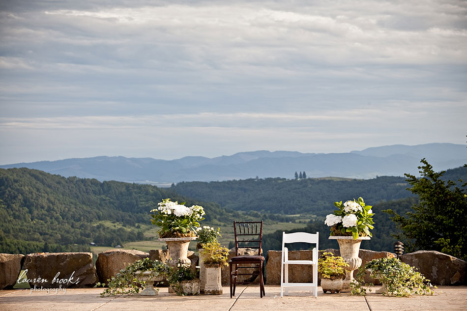
[[86, 287], [97, 282], [92, 253], [29, 254], [24, 269], [31, 288]]

